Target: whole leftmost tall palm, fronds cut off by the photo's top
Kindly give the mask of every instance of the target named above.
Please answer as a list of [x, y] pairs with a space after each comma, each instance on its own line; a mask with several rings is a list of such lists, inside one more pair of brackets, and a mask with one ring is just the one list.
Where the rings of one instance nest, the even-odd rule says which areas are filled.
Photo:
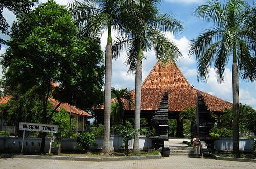
[[112, 35], [111, 30], [127, 31], [126, 25], [143, 27], [136, 13], [136, 5], [144, 5], [150, 0], [83, 0], [68, 3], [73, 19], [77, 22], [81, 36], [98, 39], [104, 30], [108, 31], [105, 51], [105, 101], [104, 101], [104, 153], [110, 152], [110, 109], [111, 109], [111, 72], [112, 72]]

